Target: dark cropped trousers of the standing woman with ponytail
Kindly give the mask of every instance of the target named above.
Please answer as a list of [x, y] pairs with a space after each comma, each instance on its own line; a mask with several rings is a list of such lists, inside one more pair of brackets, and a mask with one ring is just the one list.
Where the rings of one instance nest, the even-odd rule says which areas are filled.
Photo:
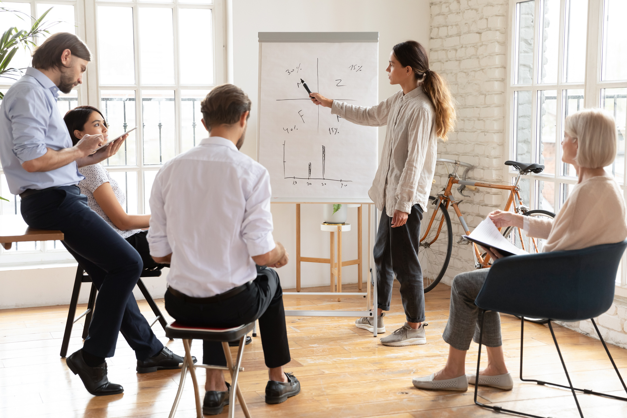
[[403, 226], [392, 227], [392, 218], [385, 207], [379, 221], [374, 243], [374, 264], [377, 267], [377, 306], [390, 310], [394, 274], [401, 283], [401, 300], [408, 322], [424, 321], [423, 270], [418, 262], [420, 221], [423, 209], [419, 204], [411, 207], [411, 213]]

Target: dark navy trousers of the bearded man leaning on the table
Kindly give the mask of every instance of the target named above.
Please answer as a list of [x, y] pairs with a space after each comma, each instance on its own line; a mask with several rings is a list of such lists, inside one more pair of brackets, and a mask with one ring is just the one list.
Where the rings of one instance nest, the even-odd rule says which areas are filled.
[[113, 357], [121, 332], [138, 360], [163, 348], [140, 313], [132, 290], [142, 271], [142, 259], [107, 222], [87, 206], [75, 185], [40, 192], [21, 201], [24, 221], [34, 228], [59, 229], [63, 245], [92, 277], [98, 288], [89, 335], [83, 349], [98, 357]]

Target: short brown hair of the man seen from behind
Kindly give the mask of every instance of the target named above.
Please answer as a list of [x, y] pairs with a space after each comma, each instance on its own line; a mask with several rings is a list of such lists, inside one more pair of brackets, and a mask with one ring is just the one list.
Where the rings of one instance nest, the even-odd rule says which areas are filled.
[[[209, 131], [218, 125], [232, 125], [240, 120], [242, 113], [250, 112], [250, 98], [241, 88], [223, 84], [209, 91], [200, 105], [203, 120]], [[248, 113], [250, 117], [250, 113]]]

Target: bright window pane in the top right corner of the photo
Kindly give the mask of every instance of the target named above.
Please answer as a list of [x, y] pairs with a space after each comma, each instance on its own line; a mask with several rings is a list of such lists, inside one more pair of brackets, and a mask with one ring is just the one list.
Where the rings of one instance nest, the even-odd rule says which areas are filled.
[[627, 1], [605, 1], [601, 80], [627, 80], [625, 16]]

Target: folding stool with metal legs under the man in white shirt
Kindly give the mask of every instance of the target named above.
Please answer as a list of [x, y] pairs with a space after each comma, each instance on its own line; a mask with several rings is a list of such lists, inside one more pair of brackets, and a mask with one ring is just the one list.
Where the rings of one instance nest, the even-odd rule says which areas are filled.
[[[244, 354], [244, 347], [246, 346], [246, 333], [253, 329], [255, 322], [240, 325], [240, 327], [234, 328], [212, 328], [212, 327], [189, 327], [178, 321], [172, 322], [166, 327], [166, 337], [168, 338], [181, 338], [183, 340], [183, 346], [185, 347], [185, 357], [181, 367], [181, 381], [179, 382], [179, 390], [176, 392], [174, 398], [174, 404], [172, 404], [172, 410], [170, 411], [169, 418], [174, 418], [176, 409], [179, 406], [179, 400], [181, 400], [181, 394], [183, 392], [183, 385], [185, 383], [185, 377], [187, 369], [189, 368], [189, 374], [191, 374], [192, 382], [194, 384], [194, 397], [196, 398], [196, 417], [203, 418], [203, 411], [201, 407], [200, 393], [198, 390], [198, 382], [196, 381], [196, 372], [194, 368], [214, 368], [217, 370], [228, 370], [231, 374], [231, 391], [229, 392], [229, 418], [235, 416], [235, 395], [237, 394], [240, 400], [241, 409], [246, 415], [246, 418], [250, 418], [250, 412], [248, 406], [241, 394], [240, 385], [238, 384], [238, 377], [240, 372], [244, 371], [241, 367], [241, 359]], [[211, 340], [222, 343], [224, 350], [224, 357], [226, 357], [227, 367], [207, 365], [207, 364], [194, 364], [191, 357], [191, 345], [192, 340]], [[237, 358], [233, 363], [233, 357], [231, 357], [231, 350], [229, 349], [229, 341], [240, 340], [240, 348], [237, 352]]]

